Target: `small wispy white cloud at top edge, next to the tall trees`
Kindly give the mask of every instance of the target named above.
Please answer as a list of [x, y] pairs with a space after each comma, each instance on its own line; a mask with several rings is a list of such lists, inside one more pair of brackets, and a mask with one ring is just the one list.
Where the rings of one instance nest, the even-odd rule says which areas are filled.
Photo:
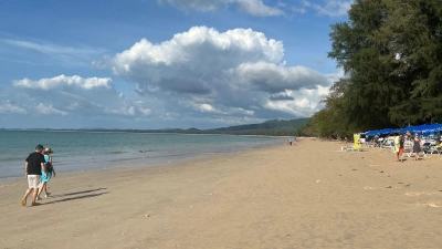
[[318, 14], [328, 17], [343, 17], [351, 8], [354, 0], [324, 0], [324, 4], [313, 3], [311, 0], [302, 0], [303, 4], [315, 9]]

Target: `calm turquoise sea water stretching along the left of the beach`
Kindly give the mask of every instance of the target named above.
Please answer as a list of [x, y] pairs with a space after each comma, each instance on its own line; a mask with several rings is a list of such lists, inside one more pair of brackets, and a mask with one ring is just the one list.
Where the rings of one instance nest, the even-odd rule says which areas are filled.
[[118, 165], [165, 164], [201, 155], [280, 144], [280, 139], [232, 135], [0, 131], [0, 180], [22, 176], [35, 145], [51, 147], [57, 173]]

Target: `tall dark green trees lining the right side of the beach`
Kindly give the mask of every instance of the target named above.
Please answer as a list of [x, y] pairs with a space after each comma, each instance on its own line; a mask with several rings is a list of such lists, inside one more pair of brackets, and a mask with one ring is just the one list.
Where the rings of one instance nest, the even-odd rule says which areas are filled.
[[345, 76], [299, 135], [442, 122], [442, 0], [356, 0], [332, 25], [332, 51]]

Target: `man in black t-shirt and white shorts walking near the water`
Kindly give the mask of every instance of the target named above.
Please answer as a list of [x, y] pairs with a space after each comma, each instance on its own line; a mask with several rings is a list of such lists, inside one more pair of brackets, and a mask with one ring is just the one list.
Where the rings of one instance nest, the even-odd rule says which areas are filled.
[[39, 206], [36, 203], [36, 196], [39, 194], [39, 186], [41, 183], [42, 172], [48, 174], [46, 167], [44, 166], [44, 156], [41, 154], [43, 152], [43, 145], [39, 144], [35, 146], [35, 152], [29, 154], [27, 163], [24, 164], [25, 176], [28, 179], [28, 189], [21, 199], [21, 206], [27, 206], [28, 196], [32, 193], [32, 205]]

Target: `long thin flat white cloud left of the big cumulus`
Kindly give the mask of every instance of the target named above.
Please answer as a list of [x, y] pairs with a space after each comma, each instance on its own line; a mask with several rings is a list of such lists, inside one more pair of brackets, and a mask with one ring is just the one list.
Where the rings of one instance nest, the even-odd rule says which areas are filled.
[[41, 90], [54, 90], [63, 89], [64, 86], [75, 86], [84, 90], [92, 90], [98, 87], [110, 89], [112, 80], [110, 77], [87, 77], [83, 79], [77, 75], [65, 76], [59, 75], [51, 79], [41, 79], [38, 81], [32, 81], [29, 79], [18, 80], [12, 82], [13, 86], [22, 89], [41, 89]]

